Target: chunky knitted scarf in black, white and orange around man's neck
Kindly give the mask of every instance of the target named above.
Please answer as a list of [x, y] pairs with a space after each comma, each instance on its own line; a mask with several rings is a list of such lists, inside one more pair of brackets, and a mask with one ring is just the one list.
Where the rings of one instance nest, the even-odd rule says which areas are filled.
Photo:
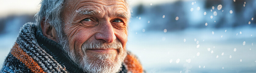
[[[43, 36], [34, 23], [26, 23], [5, 58], [1, 73], [84, 73], [64, 52], [63, 47]], [[142, 73], [135, 55], [127, 52], [120, 73]]]

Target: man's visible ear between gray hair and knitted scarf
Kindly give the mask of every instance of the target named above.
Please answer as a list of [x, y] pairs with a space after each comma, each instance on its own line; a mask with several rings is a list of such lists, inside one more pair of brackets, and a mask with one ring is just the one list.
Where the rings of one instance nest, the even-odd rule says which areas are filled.
[[57, 38], [56, 37], [56, 30], [47, 21], [45, 21], [45, 18], [43, 18], [42, 21], [41, 21], [41, 28], [42, 28], [43, 35], [45, 37], [57, 42], [56, 41], [57, 40], [56, 39]]

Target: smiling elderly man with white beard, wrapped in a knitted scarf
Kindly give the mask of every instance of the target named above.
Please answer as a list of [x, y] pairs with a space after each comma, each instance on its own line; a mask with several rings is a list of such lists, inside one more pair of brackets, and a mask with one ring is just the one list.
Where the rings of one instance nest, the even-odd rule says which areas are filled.
[[126, 51], [126, 0], [42, 0], [20, 29], [3, 73], [142, 73]]

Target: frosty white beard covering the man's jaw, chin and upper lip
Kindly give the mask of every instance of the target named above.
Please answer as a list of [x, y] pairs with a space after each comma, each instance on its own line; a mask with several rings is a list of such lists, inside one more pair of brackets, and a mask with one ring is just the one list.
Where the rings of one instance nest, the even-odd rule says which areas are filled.
[[[61, 45], [66, 50], [69, 57], [78, 64], [79, 68], [82, 68], [84, 72], [88, 73], [117, 73], [121, 70], [122, 62], [126, 57], [126, 49], [123, 49], [119, 40], [115, 40], [113, 43], [107, 44], [99, 41], [86, 41], [83, 43], [81, 52], [84, 55], [81, 57], [76, 56], [73, 50], [70, 50], [68, 41], [65, 39], [59, 39]], [[115, 48], [118, 50], [117, 55], [113, 54], [92, 54], [94, 58], [89, 58], [86, 55], [86, 49], [92, 48]], [[80, 58], [79, 58], [80, 57]], [[111, 60], [115, 57], [115, 60]]]

